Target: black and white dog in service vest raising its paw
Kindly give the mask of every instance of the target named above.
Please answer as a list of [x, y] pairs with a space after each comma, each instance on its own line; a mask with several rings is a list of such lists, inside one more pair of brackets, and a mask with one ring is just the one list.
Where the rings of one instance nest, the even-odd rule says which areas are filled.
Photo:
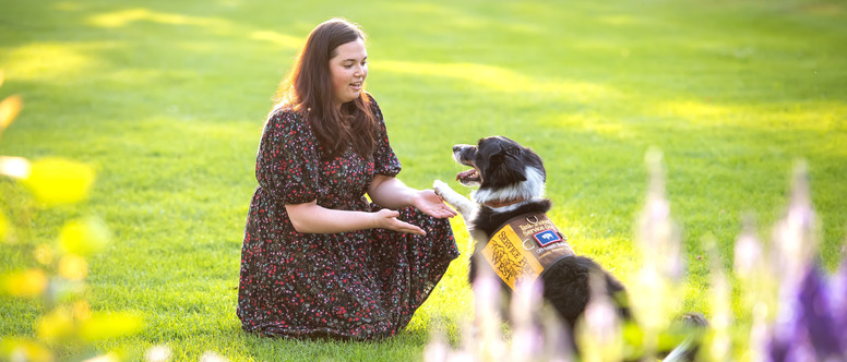
[[[540, 279], [544, 300], [563, 321], [576, 353], [574, 326], [592, 298], [593, 282], [600, 286], [599, 292], [612, 302], [621, 321], [633, 321], [624, 286], [594, 260], [573, 253], [566, 236], [546, 218], [552, 205], [545, 198], [547, 172], [540, 156], [510, 138], [491, 136], [477, 145], [453, 146], [453, 158], [470, 167], [456, 176], [463, 185], [476, 188], [470, 200], [440, 180], [433, 182], [433, 190], [463, 216], [474, 240], [469, 282], [480, 273], [497, 274], [501, 290], [511, 292], [521, 278]], [[593, 281], [598, 279], [601, 282]], [[700, 314], [682, 319], [696, 327], [706, 325]], [[669, 359], [693, 360], [696, 345], [690, 340], [683, 345], [670, 351]]]

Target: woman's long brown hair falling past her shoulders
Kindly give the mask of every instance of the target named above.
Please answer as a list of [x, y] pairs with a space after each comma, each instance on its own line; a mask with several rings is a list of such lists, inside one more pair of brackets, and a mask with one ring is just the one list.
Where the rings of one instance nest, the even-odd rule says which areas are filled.
[[343, 19], [321, 23], [309, 34], [276, 92], [277, 107], [288, 106], [308, 114], [324, 158], [341, 156], [349, 145], [368, 157], [375, 147], [377, 120], [365, 85], [358, 98], [342, 105], [341, 110], [333, 107], [330, 59], [338, 46], [356, 39], [365, 40], [365, 33], [356, 24]]

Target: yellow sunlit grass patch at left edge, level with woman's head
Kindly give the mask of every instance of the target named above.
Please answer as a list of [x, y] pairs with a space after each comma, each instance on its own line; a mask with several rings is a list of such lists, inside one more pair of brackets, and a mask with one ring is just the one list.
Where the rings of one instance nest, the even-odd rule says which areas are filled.
[[4, 57], [10, 76], [33, 81], [62, 77], [95, 65], [79, 45], [34, 43], [10, 50]]

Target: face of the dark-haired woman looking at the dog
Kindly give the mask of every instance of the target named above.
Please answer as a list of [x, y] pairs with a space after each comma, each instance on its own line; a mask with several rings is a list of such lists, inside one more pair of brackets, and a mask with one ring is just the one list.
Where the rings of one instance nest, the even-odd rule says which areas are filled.
[[359, 97], [368, 77], [368, 51], [361, 38], [335, 48], [335, 57], [330, 59], [330, 74], [335, 107]]

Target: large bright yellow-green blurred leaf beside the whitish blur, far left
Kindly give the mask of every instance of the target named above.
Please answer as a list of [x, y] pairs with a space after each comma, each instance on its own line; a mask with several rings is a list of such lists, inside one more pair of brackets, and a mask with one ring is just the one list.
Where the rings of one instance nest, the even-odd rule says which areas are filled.
[[29, 177], [22, 181], [35, 198], [48, 206], [85, 200], [94, 183], [94, 170], [86, 165], [60, 158], [31, 164]]

